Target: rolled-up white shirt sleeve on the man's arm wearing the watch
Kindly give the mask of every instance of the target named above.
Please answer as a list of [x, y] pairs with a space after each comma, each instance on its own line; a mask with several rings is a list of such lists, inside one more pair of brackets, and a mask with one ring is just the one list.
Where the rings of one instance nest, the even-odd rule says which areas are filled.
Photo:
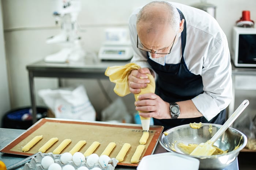
[[202, 69], [204, 93], [192, 98], [197, 110], [209, 121], [232, 99], [230, 52], [226, 36], [211, 49]]

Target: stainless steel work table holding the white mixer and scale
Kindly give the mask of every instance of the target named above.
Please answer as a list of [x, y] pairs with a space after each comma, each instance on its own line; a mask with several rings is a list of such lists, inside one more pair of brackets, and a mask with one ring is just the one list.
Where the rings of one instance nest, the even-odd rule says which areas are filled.
[[105, 70], [108, 66], [125, 65], [128, 61], [98, 61], [93, 58], [85, 59], [82, 62], [71, 63], [46, 63], [44, 61], [35, 62], [27, 65], [29, 72], [29, 85], [31, 107], [33, 112], [33, 123], [36, 119], [36, 101], [35, 101], [35, 77], [59, 78], [108, 78], [105, 76]]

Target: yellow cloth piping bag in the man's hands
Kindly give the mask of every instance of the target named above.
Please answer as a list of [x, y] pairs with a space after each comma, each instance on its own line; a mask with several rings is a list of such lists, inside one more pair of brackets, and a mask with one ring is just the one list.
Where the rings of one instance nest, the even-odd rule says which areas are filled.
[[[111, 82], [114, 82], [116, 85], [114, 87], [114, 92], [118, 96], [125, 96], [130, 92], [128, 85], [128, 76], [132, 70], [138, 70], [140, 68], [139, 65], [135, 63], [128, 63], [124, 66], [111, 66], [108, 67], [105, 71], [105, 75], [109, 77]], [[146, 88], [140, 89], [140, 93], [134, 94], [135, 101], [138, 101], [138, 97], [140, 94], [145, 93], [155, 93], [155, 79], [151, 74], [147, 74], [150, 83], [147, 84]], [[142, 117], [140, 116], [142, 130], [148, 131], [150, 125], [150, 117]]]

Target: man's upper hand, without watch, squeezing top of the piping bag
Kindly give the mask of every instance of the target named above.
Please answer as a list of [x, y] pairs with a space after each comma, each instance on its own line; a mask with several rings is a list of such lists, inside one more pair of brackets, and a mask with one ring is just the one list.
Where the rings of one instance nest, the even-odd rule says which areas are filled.
[[129, 90], [133, 94], [140, 93], [140, 89], [146, 88], [147, 83], [150, 83], [146, 74], [151, 74], [148, 68], [132, 70], [128, 76]]

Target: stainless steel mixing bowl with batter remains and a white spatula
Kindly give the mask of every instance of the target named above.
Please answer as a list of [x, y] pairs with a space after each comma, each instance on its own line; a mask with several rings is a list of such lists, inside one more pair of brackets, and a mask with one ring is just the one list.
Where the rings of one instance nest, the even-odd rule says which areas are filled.
[[[177, 147], [177, 145], [174, 146], [176, 151], [173, 151], [171, 149], [172, 143], [175, 143], [175, 141], [182, 142], [186, 145], [188, 145], [189, 143], [205, 143], [207, 140], [211, 139], [211, 137], [222, 126], [219, 124], [211, 124], [212, 133], [210, 133], [209, 125], [210, 123], [203, 123], [202, 127], [199, 129], [193, 129], [189, 126], [189, 124], [171, 128], [165, 131], [168, 133], [168, 135], [165, 135], [164, 133], [161, 135], [159, 142], [162, 147], [165, 148], [165, 150], [169, 152], [174, 152], [176, 154], [183, 154], [182, 151]], [[239, 147], [234, 150], [234, 148], [238, 146], [239, 142]], [[226, 132], [214, 143], [214, 146], [217, 146], [224, 151], [228, 150], [226, 154], [211, 155], [207, 157], [188, 155], [188, 157], [194, 157], [199, 159], [200, 170], [222, 170], [237, 158], [237, 155], [242, 150], [242, 148], [245, 147], [246, 143], [247, 138], [242, 132], [234, 128], [228, 128]]]

